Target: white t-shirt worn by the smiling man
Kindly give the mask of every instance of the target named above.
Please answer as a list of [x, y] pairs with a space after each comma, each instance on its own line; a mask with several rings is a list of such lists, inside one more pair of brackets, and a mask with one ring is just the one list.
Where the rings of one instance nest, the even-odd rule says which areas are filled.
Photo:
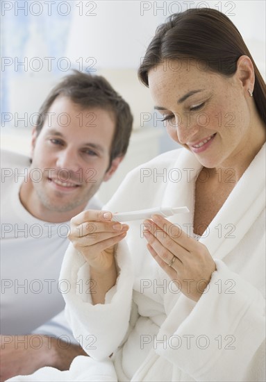
[[[1, 153], [1, 334], [28, 334], [49, 322], [64, 309], [62, 293], [70, 285], [67, 280], [58, 283], [69, 222], [36, 219], [19, 201], [29, 165], [26, 156]], [[99, 208], [95, 197], [86, 206]], [[40, 332], [62, 335], [68, 333], [65, 325], [60, 313]]]

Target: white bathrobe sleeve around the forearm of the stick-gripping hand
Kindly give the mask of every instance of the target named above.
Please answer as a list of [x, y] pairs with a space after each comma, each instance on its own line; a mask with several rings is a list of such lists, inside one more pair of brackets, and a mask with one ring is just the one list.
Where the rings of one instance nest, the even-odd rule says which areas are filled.
[[69, 245], [60, 283], [69, 285], [64, 294], [65, 313], [74, 338], [95, 360], [108, 358], [128, 331], [133, 290], [133, 271], [126, 242], [117, 246], [117, 283], [106, 294], [106, 304], [91, 304], [94, 281], [83, 256]]

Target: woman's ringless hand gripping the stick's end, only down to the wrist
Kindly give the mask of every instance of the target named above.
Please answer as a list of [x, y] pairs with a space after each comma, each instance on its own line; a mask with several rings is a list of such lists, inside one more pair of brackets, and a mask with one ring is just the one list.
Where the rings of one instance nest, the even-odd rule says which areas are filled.
[[126, 236], [128, 226], [111, 222], [108, 211], [86, 210], [71, 219], [69, 240], [97, 272], [114, 263], [114, 247]]

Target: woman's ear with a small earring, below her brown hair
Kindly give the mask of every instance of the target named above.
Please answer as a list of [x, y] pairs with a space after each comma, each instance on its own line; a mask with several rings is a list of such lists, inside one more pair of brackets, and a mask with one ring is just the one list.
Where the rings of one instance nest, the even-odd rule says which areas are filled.
[[255, 74], [252, 61], [248, 56], [241, 56], [238, 58], [236, 75], [238, 80], [242, 83], [242, 88], [244, 88], [245, 94], [249, 94], [249, 90], [253, 92]]

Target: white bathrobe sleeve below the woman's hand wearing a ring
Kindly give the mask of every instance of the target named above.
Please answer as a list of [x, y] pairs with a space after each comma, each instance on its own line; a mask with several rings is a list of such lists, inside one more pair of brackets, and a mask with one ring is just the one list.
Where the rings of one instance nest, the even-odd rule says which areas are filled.
[[195, 381], [264, 381], [265, 299], [222, 260], [215, 263], [217, 271], [178, 329], [187, 297], [167, 317], [156, 352]]

